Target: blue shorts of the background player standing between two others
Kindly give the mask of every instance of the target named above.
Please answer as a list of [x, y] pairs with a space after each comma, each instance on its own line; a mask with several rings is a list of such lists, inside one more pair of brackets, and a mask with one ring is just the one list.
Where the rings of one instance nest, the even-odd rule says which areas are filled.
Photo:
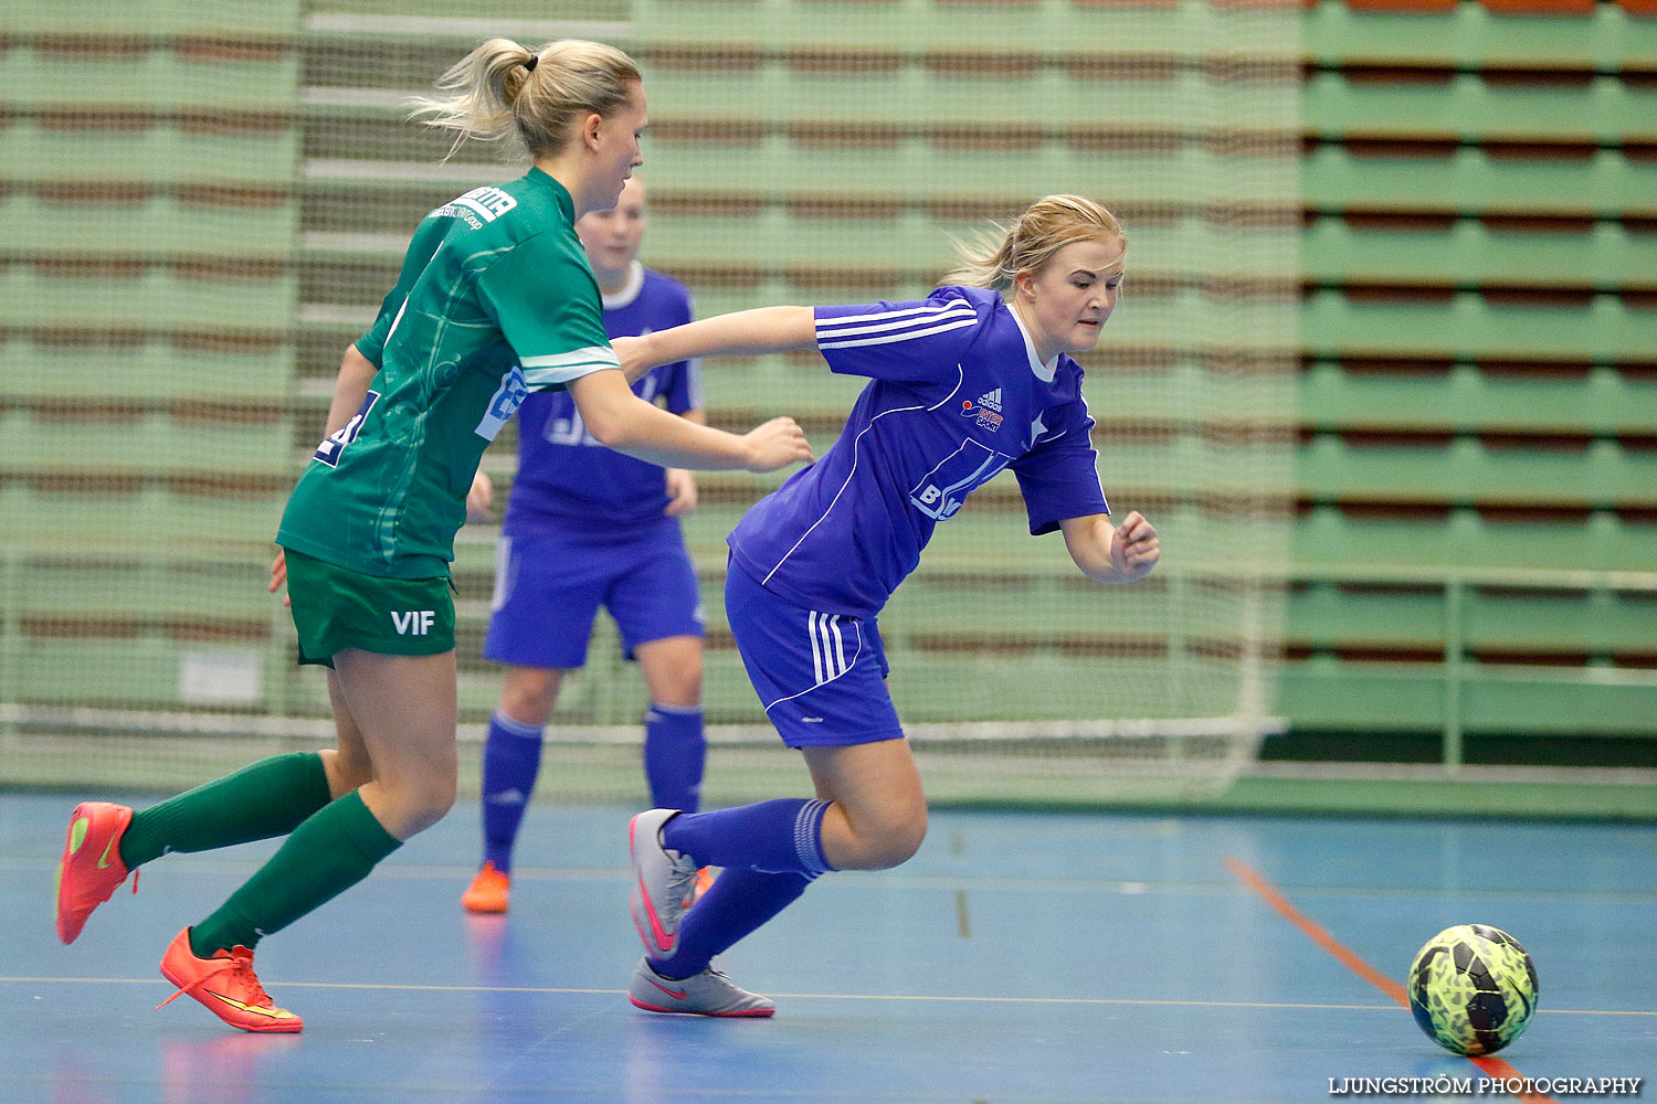
[[696, 568], [674, 518], [643, 536], [500, 535], [484, 659], [568, 670], [587, 662], [603, 606], [633, 649], [671, 636], [703, 636]]

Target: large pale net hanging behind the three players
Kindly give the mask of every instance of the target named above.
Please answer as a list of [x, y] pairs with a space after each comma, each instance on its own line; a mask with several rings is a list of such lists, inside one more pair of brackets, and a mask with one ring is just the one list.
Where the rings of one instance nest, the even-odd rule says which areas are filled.
[[[643, 260], [698, 313], [923, 296], [951, 238], [1079, 192], [1128, 235], [1082, 358], [1118, 516], [1158, 528], [1102, 588], [1031, 540], [1002, 475], [882, 614], [935, 799], [1223, 788], [1273, 717], [1291, 508], [1297, 7], [1085, 0], [18, 3], [0, 68], [0, 783], [179, 788], [331, 740], [263, 589], [345, 346], [414, 223], [515, 175], [404, 121], [484, 35], [600, 38], [646, 73]], [[88, 74], [96, 73], [96, 79]], [[993, 232], [993, 230], [991, 230]], [[794, 414], [819, 450], [857, 381], [815, 356], [704, 366], [713, 424]], [[514, 430], [486, 455], [504, 502]], [[711, 803], [799, 790], [724, 627], [724, 535], [780, 477], [703, 475]], [[461, 760], [492, 525], [457, 541]], [[645, 689], [600, 616], [542, 785], [641, 799]]]

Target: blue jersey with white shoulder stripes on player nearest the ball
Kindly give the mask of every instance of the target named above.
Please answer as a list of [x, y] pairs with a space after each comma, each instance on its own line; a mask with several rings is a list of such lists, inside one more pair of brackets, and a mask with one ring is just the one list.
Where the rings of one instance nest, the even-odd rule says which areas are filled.
[[1080, 366], [1044, 364], [998, 293], [938, 288], [920, 303], [819, 306], [815, 319], [828, 367], [870, 384], [822, 460], [732, 530], [732, 558], [767, 589], [873, 616], [933, 528], [1002, 468], [1017, 475], [1031, 535], [1110, 513]]

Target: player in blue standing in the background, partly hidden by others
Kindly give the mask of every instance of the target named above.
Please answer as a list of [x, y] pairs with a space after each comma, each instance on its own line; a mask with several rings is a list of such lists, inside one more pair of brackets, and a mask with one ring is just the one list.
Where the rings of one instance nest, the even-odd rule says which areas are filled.
[[[603, 293], [611, 338], [691, 321], [684, 285], [638, 260], [650, 225], [633, 177], [615, 210], [575, 223]], [[655, 367], [633, 384], [646, 402], [704, 424], [696, 361]], [[479, 495], [487, 477], [479, 473]], [[703, 737], [703, 609], [678, 518], [696, 508], [684, 468], [611, 452], [587, 432], [567, 394], [519, 409], [519, 462], [500, 525], [494, 611], [484, 655], [505, 664], [484, 743], [484, 862], [461, 895], [471, 912], [505, 912], [512, 849], [540, 771], [542, 737], [568, 670], [587, 662], [598, 607], [645, 675], [645, 776], [658, 808], [696, 809]], [[704, 876], [706, 877], [706, 876]]]

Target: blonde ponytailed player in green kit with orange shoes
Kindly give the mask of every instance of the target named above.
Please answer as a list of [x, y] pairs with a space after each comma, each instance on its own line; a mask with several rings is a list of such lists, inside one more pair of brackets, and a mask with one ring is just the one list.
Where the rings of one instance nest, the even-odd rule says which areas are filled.
[[58, 872], [68, 943], [143, 862], [287, 834], [161, 962], [179, 993], [245, 1031], [302, 1028], [254, 973], [260, 937], [360, 882], [454, 803], [454, 533], [484, 447], [524, 396], [567, 387], [595, 437], [664, 467], [764, 472], [810, 457], [790, 419], [746, 435], [696, 425], [618, 371], [573, 227], [613, 207], [643, 161], [645, 91], [625, 53], [495, 38], [439, 89], [451, 94], [421, 106], [432, 126], [456, 142], [517, 137], [534, 167], [421, 222], [378, 321], [346, 349], [328, 437], [283, 513], [273, 573], [288, 583], [300, 662], [333, 669], [338, 748], [268, 758], [141, 813], [83, 803]]

